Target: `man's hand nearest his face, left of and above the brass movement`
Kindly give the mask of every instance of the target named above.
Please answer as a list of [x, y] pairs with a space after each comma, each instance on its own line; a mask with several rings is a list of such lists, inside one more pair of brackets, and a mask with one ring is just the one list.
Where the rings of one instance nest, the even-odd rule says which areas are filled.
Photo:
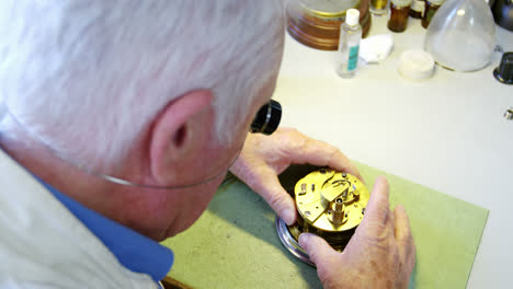
[[293, 224], [296, 206], [277, 178], [292, 163], [328, 165], [363, 181], [356, 166], [339, 149], [292, 128], [278, 129], [271, 136], [249, 134], [230, 171], [261, 195], [287, 224]]

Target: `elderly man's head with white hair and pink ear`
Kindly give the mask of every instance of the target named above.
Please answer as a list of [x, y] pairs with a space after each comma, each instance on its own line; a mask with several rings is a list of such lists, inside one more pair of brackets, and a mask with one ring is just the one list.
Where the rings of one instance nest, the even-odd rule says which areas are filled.
[[[157, 186], [221, 174], [274, 89], [283, 47], [281, 5], [276, 0], [2, 1], [1, 100], [29, 135], [96, 172]], [[10, 124], [3, 122], [4, 136], [14, 129]], [[153, 219], [168, 222], [161, 226], [170, 227], [167, 234], [174, 234], [197, 218], [219, 182], [189, 190], [139, 189], [122, 198], [153, 210]], [[83, 192], [70, 194], [90, 205]], [[190, 212], [170, 215], [182, 205]], [[112, 215], [145, 230], [136, 212]], [[167, 218], [181, 221], [171, 224]]]

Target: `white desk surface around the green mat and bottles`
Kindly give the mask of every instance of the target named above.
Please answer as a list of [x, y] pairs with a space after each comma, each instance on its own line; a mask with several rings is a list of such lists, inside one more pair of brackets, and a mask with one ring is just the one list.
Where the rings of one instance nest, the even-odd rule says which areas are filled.
[[[373, 16], [369, 35], [390, 33]], [[275, 99], [283, 126], [338, 146], [349, 158], [490, 210], [467, 288], [510, 288], [513, 275], [513, 85], [498, 82], [499, 58], [478, 72], [436, 67], [413, 82], [397, 73], [400, 54], [422, 48], [425, 30], [410, 19], [392, 33], [380, 65], [350, 80], [334, 72], [331, 51], [286, 36]], [[513, 32], [497, 27], [498, 44], [513, 50]], [[436, 212], [434, 212], [436, 213]]]

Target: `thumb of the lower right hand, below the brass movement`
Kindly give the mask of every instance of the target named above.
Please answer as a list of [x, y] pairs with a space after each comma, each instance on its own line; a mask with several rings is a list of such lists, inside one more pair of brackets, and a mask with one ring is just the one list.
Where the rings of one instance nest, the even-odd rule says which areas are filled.
[[310, 256], [310, 261], [314, 262], [319, 269], [324, 266], [330, 266], [339, 255], [324, 239], [311, 233], [300, 234], [299, 245], [306, 251], [308, 256]]

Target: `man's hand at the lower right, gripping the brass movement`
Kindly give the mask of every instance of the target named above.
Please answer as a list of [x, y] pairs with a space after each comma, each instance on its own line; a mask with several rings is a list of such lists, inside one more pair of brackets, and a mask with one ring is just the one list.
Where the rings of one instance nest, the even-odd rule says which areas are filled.
[[388, 183], [378, 177], [365, 217], [342, 253], [323, 239], [304, 233], [299, 244], [317, 265], [324, 288], [408, 288], [415, 264], [415, 245], [402, 206], [394, 213]]

